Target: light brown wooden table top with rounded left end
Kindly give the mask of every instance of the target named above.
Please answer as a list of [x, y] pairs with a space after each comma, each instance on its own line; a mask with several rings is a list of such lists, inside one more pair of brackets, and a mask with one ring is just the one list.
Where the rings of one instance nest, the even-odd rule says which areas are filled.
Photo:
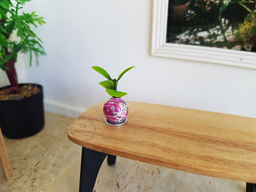
[[68, 137], [91, 150], [184, 172], [256, 183], [256, 119], [128, 101], [128, 122], [104, 123], [94, 105]]

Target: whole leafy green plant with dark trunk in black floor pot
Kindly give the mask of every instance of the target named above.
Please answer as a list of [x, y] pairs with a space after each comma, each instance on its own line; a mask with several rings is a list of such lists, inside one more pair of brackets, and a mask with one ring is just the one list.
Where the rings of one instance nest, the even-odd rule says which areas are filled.
[[[31, 0], [2, 0], [0, 2], [0, 68], [4, 70], [10, 86], [0, 88], [0, 127], [9, 138], [24, 138], [39, 132], [44, 126], [42, 86], [18, 84], [15, 70], [17, 54], [30, 53], [30, 66], [34, 53], [45, 55], [41, 40], [31, 26], [45, 24], [42, 17], [32, 13], [19, 14]], [[16, 37], [15, 37], [16, 36]]]

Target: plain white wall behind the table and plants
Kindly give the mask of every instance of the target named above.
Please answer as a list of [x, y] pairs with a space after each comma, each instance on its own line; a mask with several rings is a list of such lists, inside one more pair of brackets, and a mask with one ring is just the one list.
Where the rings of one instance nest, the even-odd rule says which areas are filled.
[[125, 100], [256, 117], [256, 70], [150, 56], [152, 1], [36, 0], [26, 9], [45, 17], [36, 31], [47, 56], [29, 68], [20, 55], [19, 80], [44, 85], [46, 110], [76, 117], [107, 100], [91, 66], [114, 77], [136, 66], [118, 84]]

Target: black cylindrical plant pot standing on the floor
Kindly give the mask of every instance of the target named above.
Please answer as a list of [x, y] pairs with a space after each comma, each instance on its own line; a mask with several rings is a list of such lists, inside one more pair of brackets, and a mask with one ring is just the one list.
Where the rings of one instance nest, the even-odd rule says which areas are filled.
[[[24, 85], [19, 84], [19, 87]], [[22, 99], [0, 101], [0, 127], [6, 137], [12, 139], [29, 137], [44, 127], [43, 89], [39, 84], [33, 84], [33, 87], [38, 87], [41, 91]]]

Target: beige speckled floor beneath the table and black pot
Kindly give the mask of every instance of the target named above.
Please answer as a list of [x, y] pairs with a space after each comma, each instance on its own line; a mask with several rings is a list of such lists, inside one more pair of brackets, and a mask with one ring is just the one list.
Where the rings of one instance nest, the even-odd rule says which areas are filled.
[[[81, 147], [69, 141], [74, 119], [46, 112], [45, 128], [26, 139], [5, 142], [14, 169], [7, 181], [0, 172], [0, 192], [75, 192], [79, 187]], [[188, 174], [169, 168], [117, 157], [104, 161], [94, 192], [110, 191], [245, 191], [245, 182]]]

